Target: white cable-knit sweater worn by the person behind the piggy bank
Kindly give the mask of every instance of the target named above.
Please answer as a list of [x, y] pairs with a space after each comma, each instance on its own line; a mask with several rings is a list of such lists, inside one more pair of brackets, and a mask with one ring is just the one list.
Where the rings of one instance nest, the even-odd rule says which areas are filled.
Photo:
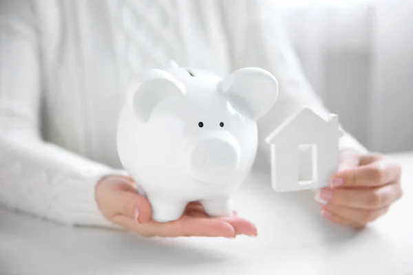
[[[259, 123], [264, 150], [268, 131], [300, 104], [325, 114], [276, 17], [256, 0], [1, 0], [0, 203], [109, 225], [94, 186], [124, 173], [115, 139], [125, 86], [171, 59], [223, 76], [272, 72], [280, 96]], [[363, 149], [350, 135], [342, 144]]]

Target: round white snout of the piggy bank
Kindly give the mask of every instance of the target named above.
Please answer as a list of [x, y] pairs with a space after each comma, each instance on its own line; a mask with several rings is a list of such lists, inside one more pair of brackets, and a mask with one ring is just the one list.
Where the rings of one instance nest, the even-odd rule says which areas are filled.
[[230, 179], [240, 161], [239, 149], [231, 139], [207, 138], [193, 147], [189, 169], [193, 177], [204, 182]]

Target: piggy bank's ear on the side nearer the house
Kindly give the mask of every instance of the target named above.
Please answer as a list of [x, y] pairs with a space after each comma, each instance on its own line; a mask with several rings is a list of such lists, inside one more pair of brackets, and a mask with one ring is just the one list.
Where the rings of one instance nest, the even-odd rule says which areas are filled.
[[253, 120], [265, 115], [278, 95], [275, 77], [264, 69], [243, 68], [229, 74], [218, 86], [233, 107]]

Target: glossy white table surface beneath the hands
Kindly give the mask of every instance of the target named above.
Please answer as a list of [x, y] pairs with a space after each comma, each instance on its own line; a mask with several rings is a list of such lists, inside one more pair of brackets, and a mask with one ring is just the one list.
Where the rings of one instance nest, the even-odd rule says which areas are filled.
[[413, 154], [395, 158], [405, 196], [361, 232], [321, 218], [310, 192], [273, 192], [262, 159], [235, 198], [257, 238], [141, 239], [0, 208], [0, 274], [413, 274]]

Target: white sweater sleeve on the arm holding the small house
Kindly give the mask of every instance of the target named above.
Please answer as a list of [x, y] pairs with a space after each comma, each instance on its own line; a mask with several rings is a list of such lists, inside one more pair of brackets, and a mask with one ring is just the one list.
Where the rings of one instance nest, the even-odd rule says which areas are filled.
[[[226, 35], [232, 68], [261, 67], [271, 72], [279, 83], [279, 96], [273, 109], [258, 121], [260, 148], [269, 158], [270, 146], [266, 137], [290, 113], [306, 106], [322, 118], [330, 113], [317, 97], [304, 76], [297, 55], [290, 45], [282, 24], [278, 21], [277, 9], [269, 0], [222, 1]], [[233, 3], [233, 5], [231, 5]], [[340, 148], [352, 148], [366, 152], [352, 135], [343, 131]]]

